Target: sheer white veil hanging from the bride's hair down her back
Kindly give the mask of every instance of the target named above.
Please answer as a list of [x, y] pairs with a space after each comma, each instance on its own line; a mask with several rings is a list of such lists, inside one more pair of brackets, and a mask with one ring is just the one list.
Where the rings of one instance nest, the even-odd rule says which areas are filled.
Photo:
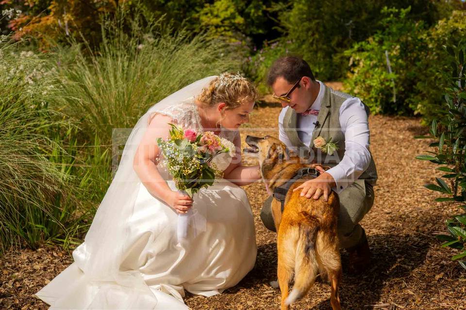
[[134, 126], [126, 141], [115, 177], [100, 203], [85, 242], [73, 251], [75, 262], [88, 280], [116, 282], [118, 285], [139, 290], [146, 295], [144, 298], [152, 298], [152, 306], [156, 302], [155, 296], [137, 270], [120, 270], [120, 264], [125, 259], [123, 256], [126, 249], [123, 247], [128, 244], [125, 242], [129, 237], [127, 221], [133, 214], [141, 183], [133, 170], [133, 158], [146, 132], [150, 114], [200, 94], [202, 88], [209, 85], [214, 78], [216, 76], [200, 79], [167, 96], [152, 106]]

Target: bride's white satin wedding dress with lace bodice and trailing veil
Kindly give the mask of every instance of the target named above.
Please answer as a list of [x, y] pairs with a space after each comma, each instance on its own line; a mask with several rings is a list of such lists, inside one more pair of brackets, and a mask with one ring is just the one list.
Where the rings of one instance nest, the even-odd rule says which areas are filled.
[[[188, 309], [184, 290], [219, 294], [252, 269], [257, 253], [254, 221], [242, 188], [221, 179], [196, 194], [193, 208], [205, 218], [205, 225], [196, 235], [191, 227], [180, 244], [177, 213], [150, 195], [130, 167], [143, 134], [136, 131], [144, 131], [154, 112], [169, 115], [186, 128], [202, 129], [192, 94], [200, 93], [210, 79], [169, 96], [179, 101], [162, 101], [133, 129], [85, 241], [73, 251], [74, 263], [35, 294], [50, 309]], [[224, 137], [232, 140], [231, 135], [225, 131]], [[218, 168], [224, 170], [230, 160], [223, 159], [217, 167], [223, 163]], [[163, 163], [158, 168], [170, 179]], [[176, 190], [173, 181], [167, 183]]]

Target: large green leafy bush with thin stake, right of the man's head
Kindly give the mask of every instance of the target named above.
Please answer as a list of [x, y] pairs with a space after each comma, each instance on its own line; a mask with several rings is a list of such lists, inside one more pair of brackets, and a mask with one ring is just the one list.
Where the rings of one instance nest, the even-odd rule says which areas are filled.
[[374, 113], [409, 115], [415, 110], [415, 86], [422, 75], [416, 64], [427, 44], [425, 24], [408, 19], [409, 11], [385, 8], [383, 30], [345, 51], [351, 57], [345, 88], [363, 98]]

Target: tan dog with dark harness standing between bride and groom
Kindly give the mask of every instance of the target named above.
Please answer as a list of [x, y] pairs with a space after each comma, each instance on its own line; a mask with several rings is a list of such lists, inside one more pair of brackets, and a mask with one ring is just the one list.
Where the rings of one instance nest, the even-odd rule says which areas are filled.
[[[293, 178], [304, 164], [278, 139], [246, 137], [250, 148], [246, 153], [257, 153], [262, 177], [268, 191], [273, 191]], [[325, 169], [325, 168], [324, 168]], [[327, 167], [328, 169], [328, 167]], [[307, 178], [309, 179], [309, 177]], [[317, 275], [331, 283], [330, 303], [333, 310], [340, 310], [338, 284], [341, 279], [341, 259], [337, 236], [337, 217], [340, 203], [333, 191], [327, 202], [300, 197], [300, 190], [293, 189], [306, 181], [302, 178], [288, 190], [283, 214], [281, 202], [272, 201], [272, 214], [277, 229], [278, 282], [282, 291], [282, 310], [305, 296], [313, 286]], [[295, 283], [288, 294], [289, 284], [295, 275]]]

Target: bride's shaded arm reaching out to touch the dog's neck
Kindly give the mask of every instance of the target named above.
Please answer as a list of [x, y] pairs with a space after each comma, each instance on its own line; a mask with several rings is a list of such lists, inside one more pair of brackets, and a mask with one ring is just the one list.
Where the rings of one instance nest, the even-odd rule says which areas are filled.
[[236, 149], [236, 154], [234, 155], [230, 166], [223, 171], [223, 177], [238, 186], [248, 185], [259, 180], [261, 178], [259, 165], [243, 166], [241, 164], [241, 136], [239, 133], [234, 138], [233, 143]]

